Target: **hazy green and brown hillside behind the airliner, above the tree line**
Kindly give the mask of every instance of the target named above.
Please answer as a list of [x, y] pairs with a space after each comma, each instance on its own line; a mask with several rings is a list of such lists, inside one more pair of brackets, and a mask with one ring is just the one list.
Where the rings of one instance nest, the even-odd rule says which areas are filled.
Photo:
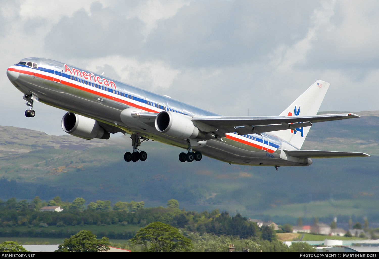
[[[329, 112], [337, 113], [337, 112]], [[144, 142], [148, 158], [125, 162], [131, 141], [83, 140], [0, 127], [0, 198], [145, 201], [174, 198], [186, 209], [219, 208], [247, 217], [294, 221], [302, 216], [378, 220], [379, 117], [315, 123], [302, 149], [359, 151], [369, 158], [313, 159], [309, 167], [244, 167], [203, 157], [182, 163], [182, 150]], [[379, 115], [379, 113], [378, 113]], [[12, 181], [10, 181], [12, 180]]]

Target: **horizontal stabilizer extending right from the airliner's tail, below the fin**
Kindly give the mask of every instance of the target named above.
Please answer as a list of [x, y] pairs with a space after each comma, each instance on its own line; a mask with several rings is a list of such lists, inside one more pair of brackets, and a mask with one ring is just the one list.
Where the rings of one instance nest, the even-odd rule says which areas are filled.
[[283, 150], [287, 155], [295, 158], [348, 158], [351, 156], [370, 156], [359, 152], [339, 152], [320, 150]]

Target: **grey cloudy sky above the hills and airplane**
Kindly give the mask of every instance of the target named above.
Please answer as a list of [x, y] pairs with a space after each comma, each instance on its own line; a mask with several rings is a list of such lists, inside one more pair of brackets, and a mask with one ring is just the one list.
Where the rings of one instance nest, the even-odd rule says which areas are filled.
[[42, 56], [223, 115], [278, 115], [316, 80], [321, 111], [379, 110], [378, 1], [0, 0], [1, 125], [60, 135], [6, 77]]

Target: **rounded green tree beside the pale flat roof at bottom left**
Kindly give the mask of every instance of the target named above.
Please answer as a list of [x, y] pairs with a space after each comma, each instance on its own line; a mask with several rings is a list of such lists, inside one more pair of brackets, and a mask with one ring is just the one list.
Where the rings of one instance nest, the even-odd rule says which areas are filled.
[[59, 245], [55, 252], [97, 253], [110, 250], [110, 245], [107, 237], [96, 239], [91, 231], [82, 230], [74, 236], [64, 239], [63, 244]]

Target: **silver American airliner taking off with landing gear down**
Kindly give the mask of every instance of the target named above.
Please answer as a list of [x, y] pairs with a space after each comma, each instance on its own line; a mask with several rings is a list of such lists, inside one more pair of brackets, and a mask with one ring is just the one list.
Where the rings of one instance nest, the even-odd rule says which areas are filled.
[[20, 90], [34, 117], [34, 101], [67, 111], [62, 129], [83, 139], [109, 139], [130, 134], [133, 152], [125, 161], [145, 161], [139, 148], [147, 140], [183, 148], [181, 162], [202, 155], [229, 164], [307, 166], [311, 158], [370, 156], [365, 153], [301, 150], [312, 123], [358, 118], [348, 114], [317, 115], [330, 86], [317, 80], [279, 116], [226, 117], [47, 58], [25, 58], [7, 76]]

